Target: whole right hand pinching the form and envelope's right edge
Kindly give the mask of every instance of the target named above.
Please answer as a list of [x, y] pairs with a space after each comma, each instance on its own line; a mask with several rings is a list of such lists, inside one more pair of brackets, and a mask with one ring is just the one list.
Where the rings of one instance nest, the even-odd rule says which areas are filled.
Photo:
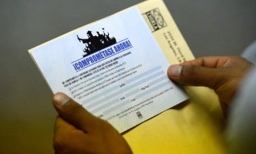
[[252, 65], [238, 56], [202, 57], [171, 65], [167, 74], [183, 85], [210, 87], [221, 103], [230, 105], [243, 76]]

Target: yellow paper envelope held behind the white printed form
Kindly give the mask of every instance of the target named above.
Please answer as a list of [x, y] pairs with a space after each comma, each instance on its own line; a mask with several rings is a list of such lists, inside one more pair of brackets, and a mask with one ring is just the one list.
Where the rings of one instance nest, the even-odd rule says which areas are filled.
[[[194, 59], [164, 2], [149, 0], [137, 7], [170, 64]], [[226, 152], [224, 116], [216, 94], [206, 87], [184, 89], [188, 101], [123, 134], [134, 153]]]

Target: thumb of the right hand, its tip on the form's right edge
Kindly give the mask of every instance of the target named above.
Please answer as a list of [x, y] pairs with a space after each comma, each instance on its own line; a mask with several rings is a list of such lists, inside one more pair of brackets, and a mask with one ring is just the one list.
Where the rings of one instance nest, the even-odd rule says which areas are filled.
[[216, 90], [225, 80], [225, 72], [221, 68], [206, 68], [196, 65], [171, 65], [167, 75], [170, 79], [190, 86], [206, 86]]

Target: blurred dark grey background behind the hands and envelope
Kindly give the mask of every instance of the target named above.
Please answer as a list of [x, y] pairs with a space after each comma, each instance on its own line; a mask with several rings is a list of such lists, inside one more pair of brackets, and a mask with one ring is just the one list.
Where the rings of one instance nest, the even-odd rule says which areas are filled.
[[[0, 153], [53, 153], [52, 93], [32, 47], [141, 1], [0, 1]], [[166, 5], [195, 57], [240, 54], [256, 36], [256, 1]]]

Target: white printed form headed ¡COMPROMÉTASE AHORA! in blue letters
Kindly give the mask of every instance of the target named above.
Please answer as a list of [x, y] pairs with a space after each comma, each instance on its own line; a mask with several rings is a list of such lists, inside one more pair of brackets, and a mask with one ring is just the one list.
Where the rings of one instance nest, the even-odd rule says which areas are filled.
[[188, 99], [168, 79], [170, 64], [151, 32], [135, 6], [29, 53], [54, 94], [67, 94], [122, 133]]

